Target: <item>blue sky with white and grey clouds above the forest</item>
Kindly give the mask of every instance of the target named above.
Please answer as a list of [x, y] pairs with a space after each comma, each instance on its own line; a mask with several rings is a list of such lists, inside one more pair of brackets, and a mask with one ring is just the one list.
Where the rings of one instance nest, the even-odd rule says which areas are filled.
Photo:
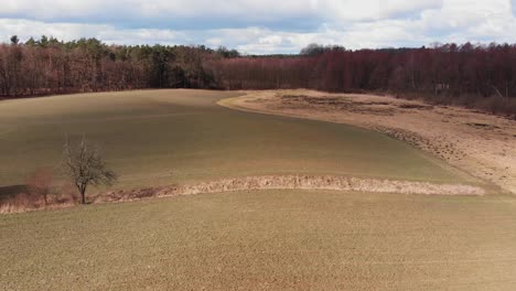
[[516, 0], [1, 0], [0, 41], [226, 46], [244, 54], [516, 43]]

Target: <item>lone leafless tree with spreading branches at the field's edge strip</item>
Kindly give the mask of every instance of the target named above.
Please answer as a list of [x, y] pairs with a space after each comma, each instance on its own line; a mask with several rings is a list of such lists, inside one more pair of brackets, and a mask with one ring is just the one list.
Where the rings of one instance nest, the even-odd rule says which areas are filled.
[[89, 185], [112, 185], [117, 180], [117, 174], [107, 169], [99, 147], [88, 142], [85, 137], [76, 144], [66, 139], [64, 163], [67, 174], [80, 193], [82, 204], [86, 204], [86, 188]]

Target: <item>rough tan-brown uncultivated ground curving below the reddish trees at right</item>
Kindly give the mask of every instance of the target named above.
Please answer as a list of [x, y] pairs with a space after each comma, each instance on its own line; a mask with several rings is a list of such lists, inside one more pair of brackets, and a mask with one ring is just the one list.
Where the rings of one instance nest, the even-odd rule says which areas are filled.
[[389, 96], [303, 89], [248, 91], [219, 105], [377, 130], [516, 194], [515, 120]]

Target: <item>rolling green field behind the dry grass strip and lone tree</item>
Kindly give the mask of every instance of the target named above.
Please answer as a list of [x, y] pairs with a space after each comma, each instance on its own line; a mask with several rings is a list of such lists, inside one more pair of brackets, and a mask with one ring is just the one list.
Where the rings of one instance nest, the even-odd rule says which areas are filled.
[[0, 186], [56, 165], [65, 134], [100, 142], [119, 187], [308, 173], [461, 182], [409, 146], [343, 125], [240, 112], [237, 93], [146, 90], [0, 103]]

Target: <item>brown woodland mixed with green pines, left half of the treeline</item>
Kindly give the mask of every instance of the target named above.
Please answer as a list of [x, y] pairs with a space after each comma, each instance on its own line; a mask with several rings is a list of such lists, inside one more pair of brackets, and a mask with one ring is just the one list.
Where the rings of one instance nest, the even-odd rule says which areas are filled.
[[0, 45], [0, 95], [7, 97], [141, 88], [214, 88], [204, 62], [237, 56], [221, 47], [107, 45], [96, 39], [42, 36]]

